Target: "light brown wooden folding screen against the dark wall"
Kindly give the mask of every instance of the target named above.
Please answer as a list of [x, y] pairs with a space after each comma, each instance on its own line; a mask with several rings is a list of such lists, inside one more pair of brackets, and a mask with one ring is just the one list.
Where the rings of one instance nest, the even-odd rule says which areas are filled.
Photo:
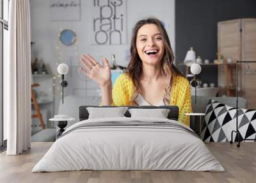
[[[256, 19], [235, 19], [218, 22], [218, 52], [224, 59], [232, 58], [236, 61], [256, 61]], [[248, 66], [250, 68], [249, 73]], [[256, 63], [243, 63], [237, 67], [239, 96], [248, 101], [248, 108], [256, 109]], [[232, 80], [225, 80], [225, 68], [218, 67], [218, 84], [227, 90], [234, 90], [236, 97], [236, 65], [232, 69]], [[227, 92], [226, 90], [226, 92]], [[227, 93], [225, 93], [227, 95]]]

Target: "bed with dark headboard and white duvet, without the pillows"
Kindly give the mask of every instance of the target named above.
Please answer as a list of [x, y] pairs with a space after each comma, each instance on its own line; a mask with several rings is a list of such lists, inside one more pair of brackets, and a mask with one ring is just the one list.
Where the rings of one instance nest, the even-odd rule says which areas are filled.
[[170, 109], [167, 118], [131, 118], [129, 111], [126, 111], [124, 117], [97, 119], [88, 119], [86, 107], [93, 106], [79, 107], [80, 122], [63, 132], [32, 172], [225, 171], [195, 132], [177, 121], [177, 106], [159, 106]]

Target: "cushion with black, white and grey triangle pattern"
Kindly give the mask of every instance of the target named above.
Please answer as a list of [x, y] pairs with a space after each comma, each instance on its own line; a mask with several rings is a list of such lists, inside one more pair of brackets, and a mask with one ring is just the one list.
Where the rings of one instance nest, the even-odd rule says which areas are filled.
[[[256, 139], [256, 110], [238, 109], [238, 129], [241, 136]], [[205, 119], [200, 134], [203, 141], [230, 141], [231, 131], [236, 130], [236, 107], [210, 100], [205, 109]], [[234, 133], [233, 139], [238, 141]]]

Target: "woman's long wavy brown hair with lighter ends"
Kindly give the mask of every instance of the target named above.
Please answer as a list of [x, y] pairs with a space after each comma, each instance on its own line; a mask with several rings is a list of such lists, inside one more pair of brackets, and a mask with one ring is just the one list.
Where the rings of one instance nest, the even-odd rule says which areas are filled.
[[138, 94], [140, 91], [139, 86], [140, 86], [141, 73], [143, 72], [143, 67], [142, 67], [142, 61], [140, 59], [140, 56], [136, 48], [136, 40], [137, 40], [139, 29], [145, 24], [155, 24], [159, 29], [161, 36], [163, 37], [164, 55], [160, 64], [161, 64], [161, 74], [163, 75], [164, 78], [166, 78], [165, 84], [164, 84], [164, 104], [169, 105], [170, 93], [171, 93], [171, 87], [172, 87], [172, 75], [173, 74], [178, 74], [180, 76], [183, 76], [183, 75], [173, 64], [173, 60], [174, 60], [173, 51], [170, 44], [170, 39], [166, 33], [166, 30], [164, 29], [163, 24], [160, 22], [160, 20], [156, 18], [151, 18], [151, 17], [148, 19], [143, 19], [138, 21], [133, 29], [131, 48], [130, 48], [131, 61], [129, 62], [129, 65], [127, 67], [127, 74], [132, 79], [132, 82], [134, 84], [134, 92], [132, 93], [132, 97], [130, 100], [131, 102], [134, 102], [136, 97], [138, 97]]

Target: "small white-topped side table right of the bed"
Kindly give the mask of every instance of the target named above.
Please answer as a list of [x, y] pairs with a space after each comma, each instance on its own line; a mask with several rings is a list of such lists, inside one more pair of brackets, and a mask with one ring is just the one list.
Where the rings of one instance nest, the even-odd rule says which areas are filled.
[[205, 113], [186, 113], [185, 115], [189, 116], [190, 128], [200, 136], [202, 131], [202, 118], [205, 116]]

